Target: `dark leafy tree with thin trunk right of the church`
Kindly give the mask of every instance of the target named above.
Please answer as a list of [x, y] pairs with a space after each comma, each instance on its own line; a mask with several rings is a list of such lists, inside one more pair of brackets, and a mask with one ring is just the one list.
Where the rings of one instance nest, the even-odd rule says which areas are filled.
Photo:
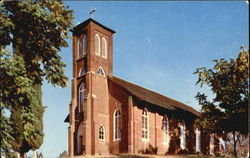
[[213, 69], [202, 67], [194, 72], [198, 74], [197, 84], [207, 85], [215, 94], [212, 101], [205, 94], [196, 96], [202, 105], [201, 126], [218, 135], [232, 133], [236, 157], [236, 138], [248, 133], [248, 58], [249, 51], [241, 47], [236, 59], [214, 60]]

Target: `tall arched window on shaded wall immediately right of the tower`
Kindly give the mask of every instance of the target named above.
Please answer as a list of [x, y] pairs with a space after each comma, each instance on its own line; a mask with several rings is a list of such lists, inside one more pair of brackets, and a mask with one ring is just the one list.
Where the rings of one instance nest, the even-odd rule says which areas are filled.
[[121, 111], [115, 110], [114, 112], [114, 140], [121, 139]]

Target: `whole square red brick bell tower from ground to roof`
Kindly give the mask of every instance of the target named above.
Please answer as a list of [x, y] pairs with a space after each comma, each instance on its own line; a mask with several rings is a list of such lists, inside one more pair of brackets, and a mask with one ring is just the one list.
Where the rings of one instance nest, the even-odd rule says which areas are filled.
[[91, 18], [71, 31], [73, 79], [68, 120], [69, 155], [105, 153], [106, 150], [98, 149], [97, 136], [100, 125], [105, 129], [105, 136], [109, 133], [107, 76], [112, 75], [112, 36], [115, 31]]

